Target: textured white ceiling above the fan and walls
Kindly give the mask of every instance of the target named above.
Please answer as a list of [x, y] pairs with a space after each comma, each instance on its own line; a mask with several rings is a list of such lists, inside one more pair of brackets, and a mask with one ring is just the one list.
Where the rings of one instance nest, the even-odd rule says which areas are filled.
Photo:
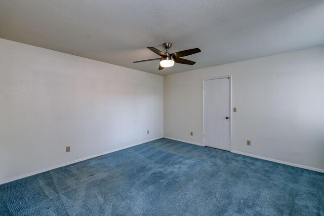
[[[167, 75], [324, 45], [324, 1], [1, 0], [0, 38]], [[132, 63], [164, 42], [197, 63]]]

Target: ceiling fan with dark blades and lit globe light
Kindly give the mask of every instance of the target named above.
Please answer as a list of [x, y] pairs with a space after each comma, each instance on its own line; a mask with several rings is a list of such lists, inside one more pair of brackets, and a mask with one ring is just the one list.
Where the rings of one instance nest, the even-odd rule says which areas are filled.
[[138, 63], [138, 62], [144, 62], [144, 61], [154, 61], [154, 60], [160, 60], [160, 64], [158, 66], [158, 69], [164, 69], [165, 67], [172, 67], [174, 63], [180, 63], [180, 64], [190, 64], [193, 65], [196, 62], [190, 61], [181, 57], [192, 55], [195, 53], [201, 52], [198, 48], [190, 49], [190, 50], [183, 50], [175, 53], [169, 53], [169, 49], [172, 46], [171, 43], [164, 43], [163, 47], [166, 49], [166, 52], [159, 51], [158, 49], [154, 47], [147, 47], [150, 49], [152, 52], [156, 53], [157, 55], [161, 56], [161, 58], [152, 58], [152, 59], [146, 59], [142, 61], [134, 61], [133, 63]]

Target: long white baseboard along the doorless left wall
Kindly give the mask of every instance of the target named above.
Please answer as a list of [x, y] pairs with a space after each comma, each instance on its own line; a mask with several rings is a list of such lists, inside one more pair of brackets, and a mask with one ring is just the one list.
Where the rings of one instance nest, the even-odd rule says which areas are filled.
[[80, 161], [88, 160], [88, 159], [91, 159], [91, 158], [96, 158], [96, 157], [101, 156], [101, 155], [106, 155], [106, 154], [109, 154], [109, 153], [112, 153], [112, 152], [117, 152], [119, 150], [131, 148], [131, 147], [134, 147], [134, 146], [138, 146], [138, 145], [141, 145], [141, 144], [143, 144], [145, 142], [153, 141], [153, 140], [159, 139], [159, 138], [163, 138], [163, 137], [161, 136], [161, 137], [156, 137], [156, 138], [153, 138], [153, 139], [148, 139], [148, 140], [145, 140], [143, 142], [138, 142], [138, 143], [135, 143], [133, 145], [129, 145], [129, 146], [126, 146], [126, 147], [123, 147], [123, 148], [118, 148], [118, 149], [110, 150], [110, 151], [107, 151], [107, 152], [99, 153], [97, 155], [92, 155], [92, 156], [85, 157], [85, 158], [82, 158], [82, 159], [77, 159], [77, 160], [74, 160], [74, 161], [65, 162], [65, 163], [57, 164], [57, 165], [50, 166], [50, 167], [47, 167], [47, 168], [44, 168], [44, 169], [39, 169], [39, 170], [36, 170], [36, 171], [33, 171], [33, 172], [29, 172], [29, 173], [25, 173], [25, 174], [22, 174], [22, 175], [18, 175], [18, 176], [15, 176], [15, 177], [8, 178], [8, 179], [5, 179], [3, 181], [0, 181], [0, 185], [3, 185], [5, 183], [9, 183], [9, 182], [18, 180], [20, 178], [24, 178], [24, 177], [28, 177], [28, 176], [31, 176], [31, 175], [35, 175], [35, 174], [38, 174], [38, 173], [46, 172], [46, 171], [49, 171], [49, 170], [52, 170], [52, 169], [56, 169], [56, 168], [59, 168], [59, 167], [62, 167], [62, 166], [67, 166], [67, 165], [70, 165], [70, 164], [73, 164], [73, 163], [77, 163], [77, 162], [80, 162]]

